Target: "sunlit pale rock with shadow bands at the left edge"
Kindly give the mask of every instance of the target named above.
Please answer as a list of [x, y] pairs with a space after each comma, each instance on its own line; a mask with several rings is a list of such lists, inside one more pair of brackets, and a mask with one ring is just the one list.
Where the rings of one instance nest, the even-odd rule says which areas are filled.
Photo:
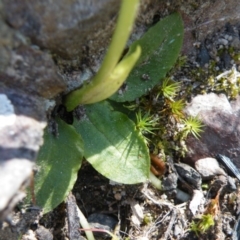
[[0, 86], [0, 220], [25, 194], [24, 186], [46, 126], [44, 105], [20, 90]]

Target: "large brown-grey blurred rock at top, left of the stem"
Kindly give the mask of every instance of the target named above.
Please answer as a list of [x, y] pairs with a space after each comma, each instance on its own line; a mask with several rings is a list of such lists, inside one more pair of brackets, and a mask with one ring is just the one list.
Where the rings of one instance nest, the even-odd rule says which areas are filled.
[[106, 46], [118, 0], [3, 1], [7, 22], [31, 41], [63, 59], [81, 58], [83, 46]]

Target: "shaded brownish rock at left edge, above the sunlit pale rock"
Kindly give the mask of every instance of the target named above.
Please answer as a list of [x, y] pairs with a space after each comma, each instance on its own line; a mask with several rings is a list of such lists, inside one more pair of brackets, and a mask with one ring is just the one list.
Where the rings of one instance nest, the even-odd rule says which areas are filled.
[[0, 82], [31, 95], [53, 98], [66, 87], [52, 56], [0, 18]]

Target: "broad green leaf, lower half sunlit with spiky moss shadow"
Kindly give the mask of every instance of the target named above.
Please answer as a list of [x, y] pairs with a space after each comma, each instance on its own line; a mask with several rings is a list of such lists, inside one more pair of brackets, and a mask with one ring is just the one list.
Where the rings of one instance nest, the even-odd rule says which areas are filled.
[[74, 122], [84, 140], [84, 156], [105, 177], [125, 184], [148, 179], [150, 160], [135, 124], [107, 102], [85, 106], [86, 117]]

